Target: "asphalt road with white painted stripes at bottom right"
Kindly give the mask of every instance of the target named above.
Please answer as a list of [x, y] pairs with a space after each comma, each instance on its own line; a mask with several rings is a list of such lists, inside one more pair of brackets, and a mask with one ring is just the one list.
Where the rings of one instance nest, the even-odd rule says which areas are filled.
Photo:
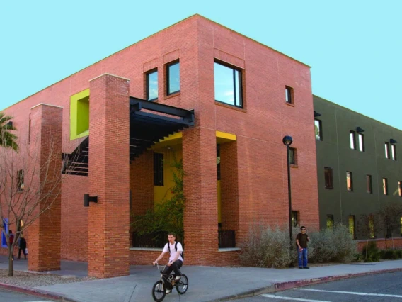
[[251, 302], [394, 302], [402, 301], [402, 272], [372, 274], [357, 278], [303, 286], [235, 301]]

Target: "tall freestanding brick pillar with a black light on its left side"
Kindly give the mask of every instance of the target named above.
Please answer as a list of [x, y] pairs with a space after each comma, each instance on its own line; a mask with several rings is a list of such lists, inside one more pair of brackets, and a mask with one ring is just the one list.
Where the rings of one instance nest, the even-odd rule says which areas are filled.
[[90, 81], [88, 276], [129, 274], [129, 80], [103, 74]]

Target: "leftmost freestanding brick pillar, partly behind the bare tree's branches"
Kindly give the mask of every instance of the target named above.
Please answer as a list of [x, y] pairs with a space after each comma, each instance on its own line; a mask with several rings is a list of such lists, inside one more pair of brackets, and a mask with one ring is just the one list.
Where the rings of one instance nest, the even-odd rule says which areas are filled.
[[[45, 211], [49, 206], [50, 209], [29, 226], [28, 269], [38, 272], [58, 270], [61, 252], [63, 108], [39, 104], [30, 109], [30, 121], [29, 150], [33, 166], [30, 166], [24, 179], [32, 181], [27, 184], [28, 189], [38, 194], [35, 200], [39, 201], [39, 206], [35, 208], [35, 213]], [[48, 167], [46, 172], [45, 167]], [[40, 174], [39, 169], [42, 171]], [[35, 189], [38, 184], [42, 189]]]

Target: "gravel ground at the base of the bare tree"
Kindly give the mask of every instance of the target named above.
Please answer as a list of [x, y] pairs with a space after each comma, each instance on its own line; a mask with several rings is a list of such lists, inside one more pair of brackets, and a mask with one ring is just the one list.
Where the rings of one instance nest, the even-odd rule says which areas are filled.
[[23, 287], [73, 283], [95, 279], [92, 277], [76, 278], [76, 276], [57, 276], [54, 274], [36, 274], [20, 271], [14, 271], [14, 276], [10, 277], [8, 276], [8, 269], [0, 269], [0, 283]]

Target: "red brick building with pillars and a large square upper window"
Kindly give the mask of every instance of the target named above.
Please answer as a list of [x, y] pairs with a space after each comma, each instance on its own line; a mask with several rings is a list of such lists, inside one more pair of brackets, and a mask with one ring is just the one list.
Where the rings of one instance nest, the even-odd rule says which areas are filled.
[[[238, 263], [239, 248], [219, 249], [218, 223], [234, 230], [236, 247], [251, 223], [288, 224], [285, 135], [293, 137], [293, 210], [299, 223], [318, 229], [309, 66], [202, 16], [161, 30], [5, 112], [14, 116], [21, 140], [35, 130], [45, 146], [39, 125], [52, 123], [62, 133], [64, 154], [88, 151], [89, 172], [66, 177], [52, 221], [40, 218], [28, 230], [29, 269], [57, 269], [59, 259], [71, 259], [88, 261], [91, 276], [111, 277], [129, 274], [129, 264], [156, 259], [160, 249], [130, 248], [129, 215], [130, 206], [144, 213], [163, 194], [154, 183], [155, 152], [169, 157], [175, 150], [183, 157], [186, 264]], [[154, 147], [140, 143], [171, 133]], [[55, 169], [61, 166], [62, 160]], [[84, 194], [98, 202], [84, 207]]]

